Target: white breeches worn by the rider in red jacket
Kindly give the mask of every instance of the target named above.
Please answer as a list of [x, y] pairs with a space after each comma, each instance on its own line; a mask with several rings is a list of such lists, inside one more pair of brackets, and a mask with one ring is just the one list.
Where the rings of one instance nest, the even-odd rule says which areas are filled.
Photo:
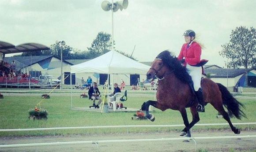
[[186, 70], [192, 78], [195, 91], [198, 91], [201, 88], [202, 67], [194, 67], [186, 64]]

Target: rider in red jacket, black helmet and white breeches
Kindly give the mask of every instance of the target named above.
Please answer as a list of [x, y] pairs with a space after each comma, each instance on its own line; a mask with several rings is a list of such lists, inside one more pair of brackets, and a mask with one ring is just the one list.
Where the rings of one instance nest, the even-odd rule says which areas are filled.
[[193, 30], [186, 30], [183, 34], [185, 42], [177, 59], [184, 58], [184, 66], [191, 76], [194, 89], [198, 99], [197, 112], [204, 112], [203, 90], [201, 88], [202, 67], [199, 66], [202, 48], [195, 40], [196, 33]]

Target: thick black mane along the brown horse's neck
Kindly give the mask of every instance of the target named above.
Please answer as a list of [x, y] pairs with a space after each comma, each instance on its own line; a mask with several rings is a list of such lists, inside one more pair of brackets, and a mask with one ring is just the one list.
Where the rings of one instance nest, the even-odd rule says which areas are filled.
[[163, 63], [169, 67], [170, 70], [173, 70], [174, 75], [181, 80], [181, 82], [189, 83], [191, 77], [187, 73], [184, 66], [181, 65], [181, 62], [173, 56], [171, 52], [165, 50], [158, 54], [156, 59], [162, 59]]

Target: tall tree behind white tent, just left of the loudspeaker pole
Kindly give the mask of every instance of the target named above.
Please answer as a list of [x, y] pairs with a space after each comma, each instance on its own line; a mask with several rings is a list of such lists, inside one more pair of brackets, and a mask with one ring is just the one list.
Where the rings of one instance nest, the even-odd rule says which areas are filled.
[[93, 59], [95, 57], [101, 56], [110, 50], [112, 50], [111, 35], [103, 32], [99, 32], [96, 39], [91, 44], [89, 51], [89, 58]]

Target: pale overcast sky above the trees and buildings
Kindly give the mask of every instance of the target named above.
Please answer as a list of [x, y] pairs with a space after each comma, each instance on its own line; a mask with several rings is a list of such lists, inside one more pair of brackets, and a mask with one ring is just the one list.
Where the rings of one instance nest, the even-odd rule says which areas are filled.
[[112, 34], [113, 26], [118, 51], [134, 50], [139, 62], [152, 62], [166, 49], [178, 55], [182, 35], [191, 29], [205, 47], [201, 58], [225, 67], [228, 60], [219, 51], [232, 30], [256, 28], [256, 0], [128, 0], [125, 10], [113, 13], [113, 25], [102, 1], [0, 0], [0, 41], [50, 46], [59, 40], [87, 51], [99, 32]]

